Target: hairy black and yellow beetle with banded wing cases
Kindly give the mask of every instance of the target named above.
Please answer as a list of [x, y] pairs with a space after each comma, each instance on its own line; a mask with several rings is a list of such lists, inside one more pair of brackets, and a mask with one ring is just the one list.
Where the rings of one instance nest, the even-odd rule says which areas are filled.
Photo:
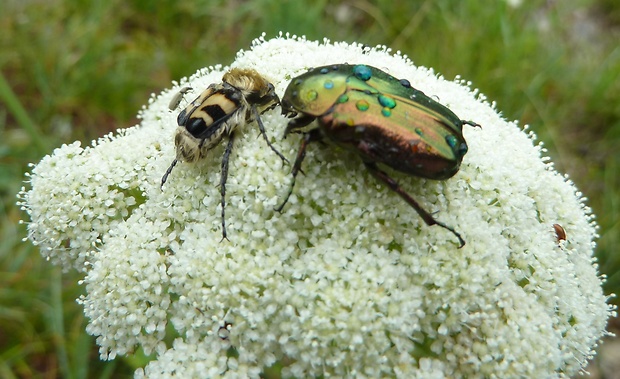
[[[189, 87], [181, 89], [181, 96], [173, 97], [170, 107], [176, 108], [182, 95], [189, 90]], [[201, 160], [224, 137], [228, 137], [220, 176], [222, 239], [228, 239], [225, 218], [226, 180], [228, 178], [228, 160], [237, 128], [245, 123], [256, 121], [267, 145], [284, 162], [288, 162], [269, 142], [269, 138], [265, 134], [265, 127], [260, 119], [261, 113], [273, 109], [278, 104], [280, 104], [280, 99], [275, 93], [273, 84], [269, 83], [267, 79], [252, 69], [233, 68], [224, 74], [222, 83], [211, 84], [177, 117], [179, 127], [174, 137], [176, 158], [161, 178], [162, 187], [179, 161], [196, 162]]]

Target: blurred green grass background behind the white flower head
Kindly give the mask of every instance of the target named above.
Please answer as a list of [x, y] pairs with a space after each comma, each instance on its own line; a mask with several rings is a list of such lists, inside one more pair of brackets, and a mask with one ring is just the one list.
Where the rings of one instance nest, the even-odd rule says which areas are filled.
[[99, 361], [79, 276], [22, 241], [28, 163], [136, 124], [152, 92], [279, 31], [387, 45], [531, 125], [589, 197], [605, 291], [620, 292], [617, 0], [1, 0], [0, 377], [126, 377], [146, 359]]

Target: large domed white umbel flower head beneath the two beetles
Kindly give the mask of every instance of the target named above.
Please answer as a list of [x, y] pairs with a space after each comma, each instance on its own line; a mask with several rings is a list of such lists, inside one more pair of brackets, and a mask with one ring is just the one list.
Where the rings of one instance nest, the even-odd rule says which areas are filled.
[[[282, 95], [310, 67], [364, 63], [437, 98], [464, 120], [469, 152], [451, 179], [397, 175], [454, 235], [428, 227], [352, 152], [312, 144], [291, 183], [255, 123], [235, 141], [221, 241], [224, 144], [196, 164], [175, 156], [171, 98], [221, 81], [204, 69], [155, 96], [139, 126], [63, 146], [30, 175], [28, 238], [52, 263], [85, 273], [80, 299], [101, 356], [142, 347], [137, 377], [569, 377], [613, 313], [593, 263], [597, 237], [581, 193], [533, 134], [477, 91], [385, 47], [260, 38], [231, 67], [253, 68]], [[184, 100], [183, 104], [186, 104]], [[281, 140], [280, 109], [262, 120]], [[567, 240], [558, 242], [553, 224]], [[172, 327], [171, 327], [172, 326]], [[170, 342], [174, 341], [174, 342]]]

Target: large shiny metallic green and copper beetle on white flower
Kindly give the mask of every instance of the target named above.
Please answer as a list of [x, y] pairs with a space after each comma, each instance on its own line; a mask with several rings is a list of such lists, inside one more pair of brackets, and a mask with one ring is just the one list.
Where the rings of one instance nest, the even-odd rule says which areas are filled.
[[[465, 245], [459, 233], [435, 220], [380, 165], [427, 179], [451, 178], [467, 153], [463, 125], [480, 125], [461, 120], [408, 80], [367, 65], [311, 69], [290, 82], [281, 106], [282, 114], [294, 117], [284, 135], [297, 132], [304, 137], [292, 169], [293, 182], [277, 211], [293, 192], [308, 144], [325, 138], [359, 154], [370, 173], [400, 195], [427, 225], [449, 230], [459, 247]], [[307, 130], [315, 119], [318, 127]]]

